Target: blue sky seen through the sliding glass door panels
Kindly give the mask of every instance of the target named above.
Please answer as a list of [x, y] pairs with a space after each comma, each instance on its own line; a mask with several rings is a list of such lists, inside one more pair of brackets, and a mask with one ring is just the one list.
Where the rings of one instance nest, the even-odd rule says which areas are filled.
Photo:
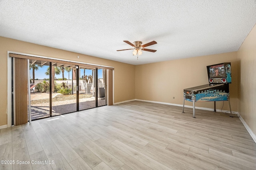
[[[42, 68], [39, 67], [38, 70], [35, 70], [35, 79], [43, 80], [44, 78], [49, 78], [49, 75], [47, 76], [45, 72], [47, 71], [47, 68], [49, 66], [43, 66]], [[80, 77], [84, 75], [84, 69], [80, 71]], [[92, 70], [85, 70], [85, 75], [92, 75]], [[62, 78], [62, 72], [60, 72], [59, 75], [55, 74], [56, 78]], [[33, 78], [32, 69], [30, 70], [30, 78]], [[68, 72], [64, 71], [64, 78], [68, 79]], [[102, 78], [102, 69], [98, 70], [98, 78]], [[72, 79], [72, 72], [69, 72], [69, 79]]]

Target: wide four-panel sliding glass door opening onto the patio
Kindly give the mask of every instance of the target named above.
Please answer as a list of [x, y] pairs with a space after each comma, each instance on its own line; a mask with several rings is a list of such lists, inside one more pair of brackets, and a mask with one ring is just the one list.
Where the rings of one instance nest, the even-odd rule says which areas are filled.
[[[26, 119], [19, 124], [30, 119], [42, 119], [107, 105], [107, 69], [65, 61], [44, 61], [43, 58], [38, 60], [41, 59], [38, 57], [26, 59], [22, 55], [12, 56], [15, 58], [12, 62], [12, 84], [15, 83], [12, 85], [12, 119], [16, 117], [15, 119], [20, 120], [19, 115]], [[21, 84], [25, 86], [21, 87]], [[25, 102], [19, 107], [23, 100]], [[21, 108], [24, 111], [19, 114]], [[15, 120], [12, 124], [15, 124]]]

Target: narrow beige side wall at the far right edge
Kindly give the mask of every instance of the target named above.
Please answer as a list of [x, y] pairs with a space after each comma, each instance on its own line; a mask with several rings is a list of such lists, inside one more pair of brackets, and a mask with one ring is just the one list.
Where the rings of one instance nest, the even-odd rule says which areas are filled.
[[238, 54], [239, 113], [256, 134], [256, 25], [242, 43]]

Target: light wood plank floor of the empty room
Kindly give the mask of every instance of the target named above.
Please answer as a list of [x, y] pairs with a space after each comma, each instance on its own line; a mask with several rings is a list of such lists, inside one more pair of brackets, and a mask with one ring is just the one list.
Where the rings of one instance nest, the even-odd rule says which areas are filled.
[[0, 160], [14, 164], [0, 169], [256, 169], [256, 144], [239, 118], [181, 111], [134, 101], [1, 129]]

